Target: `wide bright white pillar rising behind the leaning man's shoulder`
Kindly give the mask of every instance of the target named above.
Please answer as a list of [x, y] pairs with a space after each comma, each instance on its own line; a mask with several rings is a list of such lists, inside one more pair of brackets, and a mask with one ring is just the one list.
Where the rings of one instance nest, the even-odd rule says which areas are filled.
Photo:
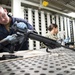
[[21, 0], [11, 0], [12, 14], [14, 17], [24, 18], [23, 8], [21, 7]]

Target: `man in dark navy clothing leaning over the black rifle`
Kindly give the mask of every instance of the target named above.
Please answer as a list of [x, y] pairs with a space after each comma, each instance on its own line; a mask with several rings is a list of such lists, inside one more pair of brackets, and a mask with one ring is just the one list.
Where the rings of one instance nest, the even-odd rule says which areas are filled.
[[[7, 10], [0, 6], [0, 40], [6, 38], [8, 35], [14, 34], [14, 31], [10, 29], [10, 27], [15, 22], [23, 22], [27, 25], [27, 28], [30, 30], [33, 30], [33, 27], [24, 19], [21, 18], [15, 18], [8, 14]], [[8, 47], [8, 45], [6, 45]], [[17, 45], [15, 50], [18, 50], [20, 45]], [[28, 50], [28, 38], [26, 41], [24, 41], [24, 44], [20, 48], [20, 50]], [[1, 49], [0, 52], [3, 52]]]

